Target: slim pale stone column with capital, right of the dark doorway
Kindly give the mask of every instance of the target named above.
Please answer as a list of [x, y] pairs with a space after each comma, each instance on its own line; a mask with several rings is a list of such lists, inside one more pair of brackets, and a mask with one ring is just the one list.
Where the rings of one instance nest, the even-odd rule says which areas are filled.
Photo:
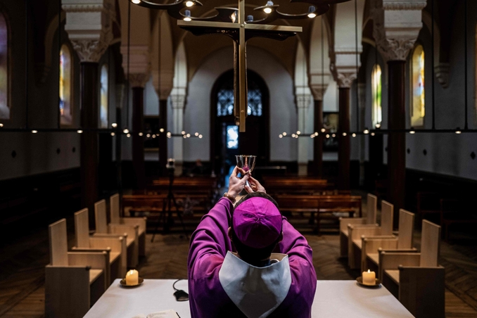
[[[310, 94], [297, 94], [296, 106], [298, 108], [298, 130], [300, 138], [298, 138], [298, 175], [306, 176], [308, 174], [308, 144], [310, 142], [307, 135], [307, 112], [310, 108], [312, 96]], [[305, 137], [304, 137], [305, 136]]]

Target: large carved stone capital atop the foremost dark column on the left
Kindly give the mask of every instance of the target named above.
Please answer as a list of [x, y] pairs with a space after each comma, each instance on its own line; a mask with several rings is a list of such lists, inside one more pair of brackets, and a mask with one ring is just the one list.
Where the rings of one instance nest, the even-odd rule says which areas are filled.
[[98, 63], [113, 40], [115, 6], [112, 0], [62, 0], [65, 31], [79, 60]]

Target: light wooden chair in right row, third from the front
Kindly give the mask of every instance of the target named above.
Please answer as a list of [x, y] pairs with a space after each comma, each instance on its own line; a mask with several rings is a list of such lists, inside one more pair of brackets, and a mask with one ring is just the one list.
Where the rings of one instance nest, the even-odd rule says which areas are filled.
[[393, 236], [394, 205], [381, 201], [381, 227], [363, 227], [360, 224], [348, 224], [348, 265], [351, 269], [364, 269], [366, 257], [362, 253], [362, 239], [372, 238], [395, 238]]

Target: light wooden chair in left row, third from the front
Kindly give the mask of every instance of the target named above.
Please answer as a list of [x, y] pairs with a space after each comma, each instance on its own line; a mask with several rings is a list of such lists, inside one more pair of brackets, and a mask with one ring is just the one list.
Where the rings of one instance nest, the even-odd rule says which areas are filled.
[[139, 262], [139, 225], [108, 224], [104, 200], [94, 203], [94, 219], [96, 221], [95, 237], [110, 237], [110, 234], [127, 237], [127, 266], [136, 267]]

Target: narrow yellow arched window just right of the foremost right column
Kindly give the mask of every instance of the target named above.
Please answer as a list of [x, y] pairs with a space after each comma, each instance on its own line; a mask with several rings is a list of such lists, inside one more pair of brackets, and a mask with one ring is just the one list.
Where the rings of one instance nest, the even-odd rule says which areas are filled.
[[424, 126], [426, 115], [425, 89], [424, 89], [424, 48], [416, 46], [412, 53], [412, 101], [411, 101], [411, 126]]

